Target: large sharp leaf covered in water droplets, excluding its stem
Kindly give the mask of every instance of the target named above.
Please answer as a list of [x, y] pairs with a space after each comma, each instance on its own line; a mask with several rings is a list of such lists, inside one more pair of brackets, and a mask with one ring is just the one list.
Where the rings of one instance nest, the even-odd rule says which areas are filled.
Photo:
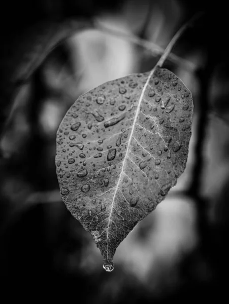
[[92, 235], [107, 271], [120, 242], [184, 171], [192, 113], [182, 81], [155, 67], [83, 94], [61, 122], [61, 197]]

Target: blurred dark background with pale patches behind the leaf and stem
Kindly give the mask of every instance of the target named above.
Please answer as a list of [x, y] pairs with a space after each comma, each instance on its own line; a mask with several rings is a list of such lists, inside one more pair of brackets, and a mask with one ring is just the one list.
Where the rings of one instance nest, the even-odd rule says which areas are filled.
[[[5, 5], [2, 49], [6, 37], [17, 36], [23, 44], [20, 32], [44, 17], [83, 18], [94, 25], [73, 32], [20, 84], [2, 132], [2, 295], [25, 299], [32, 292], [33, 298], [63, 295], [110, 304], [223, 299], [229, 269], [229, 37], [223, 2], [25, 0]], [[91, 236], [61, 201], [54, 162], [57, 128], [81, 94], [152, 69], [179, 27], [200, 11], [204, 14], [164, 65], [192, 92], [186, 169], [165, 201], [120, 244], [115, 269], [106, 273]], [[16, 45], [11, 52], [17, 52]]]

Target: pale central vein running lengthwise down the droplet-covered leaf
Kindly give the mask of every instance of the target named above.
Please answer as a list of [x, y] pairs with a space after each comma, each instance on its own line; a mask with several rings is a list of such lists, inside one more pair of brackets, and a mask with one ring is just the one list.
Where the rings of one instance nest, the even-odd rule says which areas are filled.
[[122, 168], [121, 168], [121, 173], [120, 173], [120, 176], [119, 176], [119, 179], [118, 179], [118, 182], [117, 182], [117, 186], [115, 188], [115, 192], [114, 192], [114, 196], [113, 196], [113, 201], [112, 201], [112, 204], [111, 204], [111, 212], [110, 212], [110, 216], [109, 216], [109, 221], [108, 221], [108, 228], [107, 228], [107, 260], [108, 260], [108, 234], [109, 234], [109, 226], [110, 226], [110, 222], [111, 222], [111, 214], [112, 214], [112, 211], [113, 211], [113, 206], [114, 206], [114, 200], [115, 200], [115, 197], [116, 197], [116, 193], [117, 193], [117, 190], [118, 190], [118, 186], [119, 186], [119, 183], [120, 183], [120, 180], [121, 180], [121, 176], [122, 176], [122, 173], [123, 173], [123, 169], [125, 167], [125, 160], [127, 158], [127, 155], [128, 155], [128, 149], [129, 149], [129, 146], [130, 146], [130, 142], [132, 140], [132, 136], [133, 136], [133, 133], [134, 133], [134, 129], [135, 129], [135, 124], [136, 124], [136, 121], [138, 119], [138, 115], [139, 115], [139, 111], [140, 111], [140, 107], [141, 107], [141, 103], [142, 103], [142, 99], [143, 99], [143, 96], [145, 94], [145, 91], [146, 91], [146, 88], [149, 84], [149, 81], [156, 69], [157, 65], [151, 70], [148, 78], [147, 78], [147, 81], [143, 87], [143, 90], [142, 90], [142, 93], [141, 93], [141, 96], [140, 96], [140, 99], [139, 99], [139, 104], [138, 104], [138, 107], [136, 109], [136, 114], [135, 114], [135, 118], [134, 118], [134, 122], [133, 122], [133, 127], [132, 127], [132, 130], [130, 132], [130, 135], [129, 135], [129, 140], [128, 140], [128, 143], [127, 143], [127, 147], [126, 147], [126, 154], [125, 154], [125, 157], [124, 157], [124, 160], [123, 160], [123, 163], [122, 163]]

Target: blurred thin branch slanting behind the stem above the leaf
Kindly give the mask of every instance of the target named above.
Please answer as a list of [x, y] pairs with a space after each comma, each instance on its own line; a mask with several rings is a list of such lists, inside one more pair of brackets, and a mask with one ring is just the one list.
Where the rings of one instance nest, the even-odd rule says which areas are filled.
[[[165, 52], [165, 49], [161, 48], [160, 46], [158, 46], [157, 44], [155, 44], [153, 42], [150, 42], [145, 39], [141, 39], [135, 35], [129, 35], [128, 33], [109, 28], [97, 20], [94, 21], [94, 27], [97, 30], [100, 30], [107, 34], [112, 34], [120, 39], [132, 42], [133, 44], [136, 44], [136, 45], [146, 49], [147, 51], [149, 51], [152, 54], [152, 56], [154, 56], [154, 57], [160, 56]], [[197, 68], [197, 65], [195, 65], [193, 62], [191, 62], [187, 59], [181, 58], [173, 53], [170, 53], [168, 55], [167, 60], [173, 62], [174, 64], [182, 66], [183, 68], [185, 68], [188, 71], [193, 71]]]

